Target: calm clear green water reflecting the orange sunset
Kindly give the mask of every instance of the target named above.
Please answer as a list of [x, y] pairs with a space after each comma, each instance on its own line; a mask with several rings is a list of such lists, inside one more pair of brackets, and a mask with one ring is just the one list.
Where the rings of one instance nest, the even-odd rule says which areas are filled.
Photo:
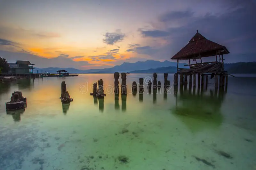
[[[147, 76], [127, 74], [128, 91]], [[90, 86], [100, 78], [107, 96], [95, 100]], [[59, 99], [61, 81], [70, 105]], [[0, 170], [255, 170], [256, 78], [229, 77], [224, 91], [213, 83], [126, 97], [111, 93], [114, 74], [0, 83]], [[6, 114], [15, 90], [27, 108]]]

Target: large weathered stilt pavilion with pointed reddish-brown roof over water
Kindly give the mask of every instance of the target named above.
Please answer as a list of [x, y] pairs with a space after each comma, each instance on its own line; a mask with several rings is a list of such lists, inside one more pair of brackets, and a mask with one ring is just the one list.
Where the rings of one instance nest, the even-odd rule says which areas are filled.
[[[217, 44], [215, 42], [206, 39], [201, 35], [198, 30], [196, 34], [186, 46], [184, 46], [177, 54], [175, 54], [171, 59], [177, 60], [177, 73], [174, 75], [174, 86], [178, 85], [178, 75], [180, 74], [180, 84], [192, 83], [192, 75], [194, 75], [194, 87], [196, 86], [196, 74], [198, 74], [198, 86], [200, 86], [200, 75], [202, 76], [201, 84], [204, 85], [204, 76], [206, 77], [206, 86], [208, 83], [208, 75], [211, 78], [215, 77], [215, 87], [218, 88], [218, 75], [220, 77], [220, 87], [224, 86], [224, 81], [226, 77], [226, 84], [228, 80], [228, 73], [224, 69], [224, 59], [223, 54], [228, 54], [229, 51], [225, 46]], [[203, 57], [216, 56], [216, 61], [212, 62], [202, 62]], [[197, 60], [200, 62], [197, 63]], [[189, 68], [179, 68], [179, 60], [188, 60]], [[191, 64], [190, 61], [193, 60], [196, 63]], [[185, 78], [184, 78], [185, 76]]]

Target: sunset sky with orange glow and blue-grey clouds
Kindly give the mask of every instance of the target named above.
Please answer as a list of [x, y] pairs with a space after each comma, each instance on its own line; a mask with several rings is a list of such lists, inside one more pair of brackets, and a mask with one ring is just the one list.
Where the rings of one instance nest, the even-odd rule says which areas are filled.
[[224, 62], [256, 61], [255, 9], [256, 0], [0, 0], [0, 57], [82, 70], [172, 61], [198, 30], [227, 47]]

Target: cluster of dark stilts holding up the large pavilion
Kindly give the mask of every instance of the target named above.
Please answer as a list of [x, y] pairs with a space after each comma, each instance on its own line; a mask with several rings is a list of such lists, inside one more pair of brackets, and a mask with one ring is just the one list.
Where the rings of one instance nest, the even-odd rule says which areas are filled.
[[[189, 76], [189, 86], [196, 87], [196, 73], [193, 74], [184, 74], [184, 73], [175, 73], [174, 74], [174, 86], [178, 86], [178, 79], [180, 74], [180, 85], [187, 85], [188, 84], [188, 76]], [[193, 76], [193, 78], [192, 78]], [[215, 80], [215, 88], [222, 88], [225, 87], [225, 85], [228, 85], [228, 74], [200, 74], [197, 73], [197, 86], [201, 86], [207, 89], [208, 87], [208, 76], [210, 76], [210, 79], [214, 78]], [[205, 78], [204, 78], [205, 77]], [[193, 81], [192, 81], [193, 79]]]

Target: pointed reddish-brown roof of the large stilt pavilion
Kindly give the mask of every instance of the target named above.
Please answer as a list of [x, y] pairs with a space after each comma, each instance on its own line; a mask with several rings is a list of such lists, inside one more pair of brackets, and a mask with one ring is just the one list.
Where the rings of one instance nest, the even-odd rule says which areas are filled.
[[184, 46], [177, 54], [175, 54], [172, 60], [188, 60], [200, 57], [209, 57], [218, 54], [228, 54], [229, 51], [225, 46], [217, 44], [215, 42], [206, 39], [201, 35], [198, 30], [196, 34], [186, 46]]

